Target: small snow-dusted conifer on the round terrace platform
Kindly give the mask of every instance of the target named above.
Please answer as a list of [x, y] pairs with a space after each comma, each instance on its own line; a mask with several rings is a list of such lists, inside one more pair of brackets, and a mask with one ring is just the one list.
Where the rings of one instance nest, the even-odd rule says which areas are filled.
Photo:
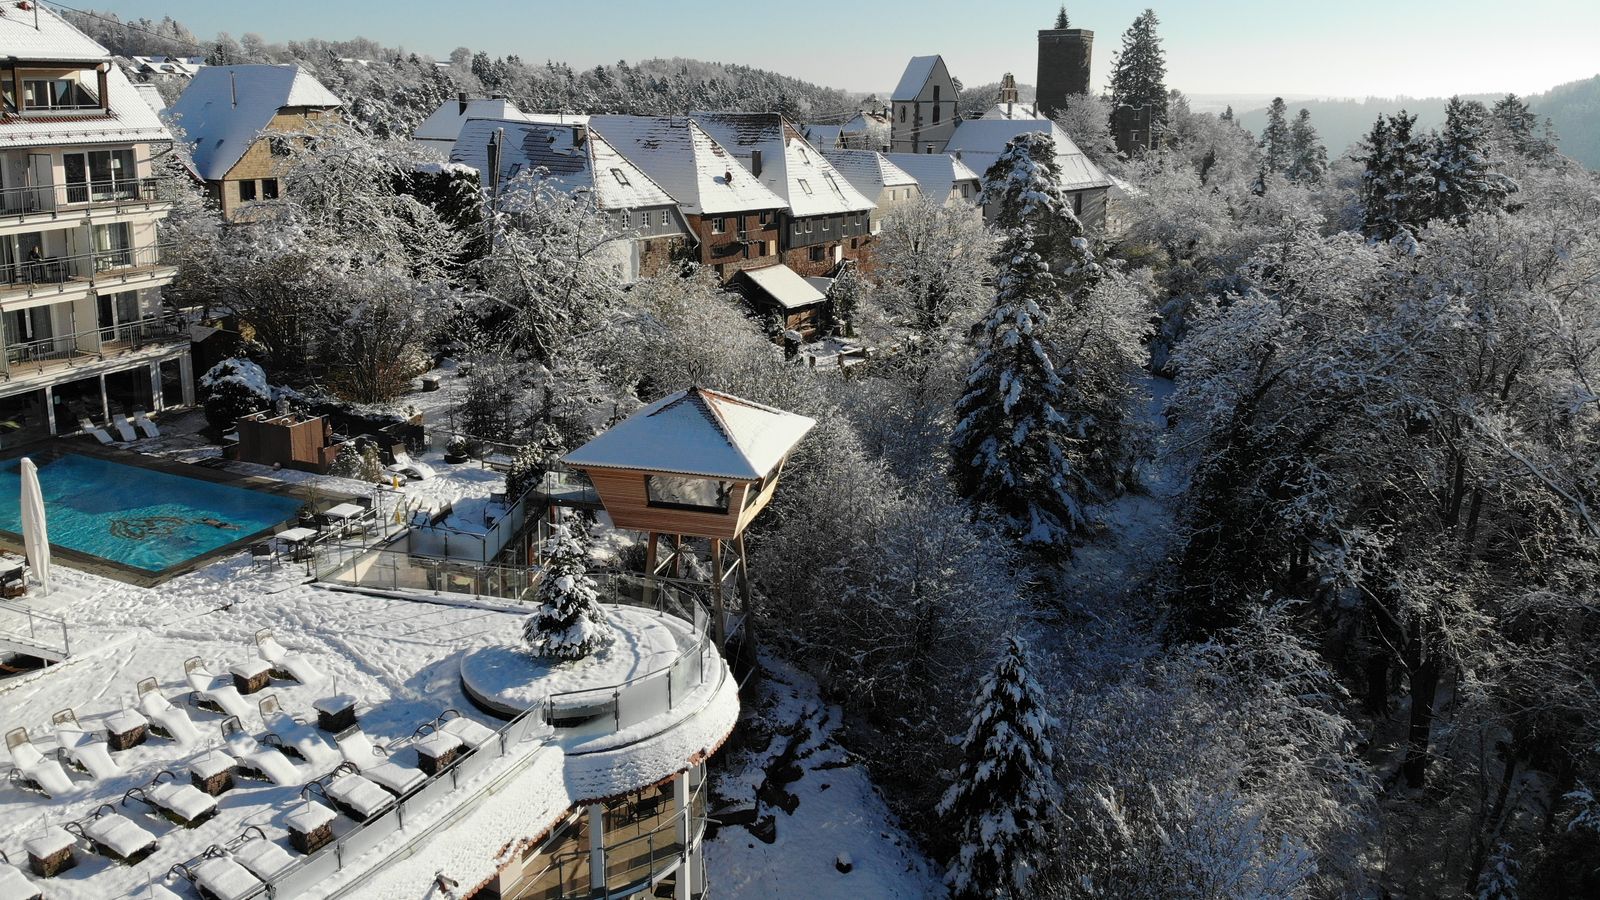
[[534, 657], [582, 660], [616, 634], [584, 567], [589, 551], [565, 524], [555, 527], [542, 551], [544, 577], [536, 594], [539, 612], [523, 623], [522, 637]]

